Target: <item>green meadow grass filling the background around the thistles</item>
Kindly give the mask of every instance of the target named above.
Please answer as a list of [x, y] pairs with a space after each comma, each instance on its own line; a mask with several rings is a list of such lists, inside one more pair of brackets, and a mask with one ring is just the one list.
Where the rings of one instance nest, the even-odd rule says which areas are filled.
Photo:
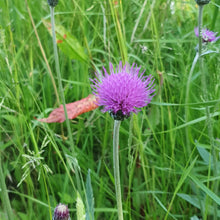
[[[220, 205], [214, 183], [220, 179], [212, 162], [205, 111], [209, 106], [219, 170], [220, 57], [219, 53], [204, 57], [208, 90], [204, 101], [198, 63], [188, 80], [198, 43], [194, 35], [198, 8], [194, 1], [174, 1], [172, 13], [171, 2], [60, 0], [55, 7], [57, 27], [74, 36], [83, 49], [77, 54], [76, 44], [70, 51], [58, 44], [66, 103], [88, 96], [89, 78], [102, 66], [108, 69], [109, 62], [115, 66], [121, 60], [135, 62], [155, 77], [152, 103], [120, 127], [124, 219], [220, 218], [214, 210]], [[67, 204], [71, 218], [77, 219], [80, 199], [89, 219], [93, 208], [94, 219], [117, 219], [113, 119], [96, 109], [71, 120], [74, 146], [69, 138], [63, 139], [68, 137], [65, 123], [35, 120], [58, 107], [50, 69], [57, 88], [58, 82], [52, 38], [44, 25], [50, 22], [49, 6], [39, 0], [28, 1], [28, 7], [46, 57], [25, 1], [0, 2], [0, 165], [7, 191], [2, 184], [0, 188], [9, 196], [14, 219], [51, 219], [59, 202]], [[204, 7], [203, 24], [215, 32], [220, 32], [219, 7], [217, 0]], [[209, 49], [219, 51], [219, 42]], [[3, 220], [10, 213], [4, 193]]]

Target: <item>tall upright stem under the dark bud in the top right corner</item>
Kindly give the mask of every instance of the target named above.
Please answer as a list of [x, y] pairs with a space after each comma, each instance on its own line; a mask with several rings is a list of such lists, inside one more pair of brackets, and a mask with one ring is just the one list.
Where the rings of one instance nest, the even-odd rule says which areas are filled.
[[[208, 100], [208, 91], [207, 91], [207, 84], [206, 84], [206, 73], [204, 71], [204, 60], [202, 57], [202, 13], [203, 13], [203, 6], [199, 5], [199, 19], [198, 19], [198, 25], [199, 25], [199, 69], [201, 73], [201, 85], [203, 88], [203, 93], [204, 93], [204, 100]], [[206, 117], [207, 117], [207, 125], [208, 125], [208, 136], [210, 139], [210, 146], [211, 146], [211, 153], [213, 157], [213, 174], [214, 177], [218, 176], [218, 170], [217, 170], [217, 155], [215, 152], [215, 146], [214, 146], [214, 137], [213, 137], [213, 126], [211, 122], [211, 117], [210, 117], [210, 110], [209, 106], [205, 107], [206, 110]], [[214, 193], [218, 193], [218, 181], [214, 182]], [[214, 220], [217, 220], [217, 204], [214, 203]]]

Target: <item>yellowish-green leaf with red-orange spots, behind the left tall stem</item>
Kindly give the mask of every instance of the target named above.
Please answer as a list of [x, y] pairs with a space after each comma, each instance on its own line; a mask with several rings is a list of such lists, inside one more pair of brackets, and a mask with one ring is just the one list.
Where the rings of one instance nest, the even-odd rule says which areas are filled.
[[[52, 36], [51, 24], [45, 20], [43, 20], [43, 24]], [[82, 62], [88, 61], [88, 56], [84, 52], [84, 48], [72, 34], [70, 34], [62, 25], [56, 25], [55, 31], [57, 46], [64, 54], [70, 59], [80, 60]]]

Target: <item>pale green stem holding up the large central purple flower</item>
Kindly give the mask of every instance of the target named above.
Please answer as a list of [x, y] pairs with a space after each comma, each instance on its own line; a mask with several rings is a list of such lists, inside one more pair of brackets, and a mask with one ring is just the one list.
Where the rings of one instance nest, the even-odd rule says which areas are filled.
[[113, 165], [114, 165], [114, 178], [115, 178], [115, 191], [118, 208], [118, 219], [123, 220], [123, 210], [121, 201], [121, 184], [120, 184], [120, 171], [119, 171], [119, 128], [121, 121], [114, 121], [113, 132]]

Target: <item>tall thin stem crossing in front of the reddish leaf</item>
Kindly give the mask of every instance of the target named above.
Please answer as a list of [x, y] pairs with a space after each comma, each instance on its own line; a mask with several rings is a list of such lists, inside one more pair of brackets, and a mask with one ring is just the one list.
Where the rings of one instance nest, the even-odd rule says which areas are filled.
[[[73, 157], [76, 158], [76, 152], [75, 152], [75, 148], [74, 148], [74, 142], [73, 142], [71, 127], [70, 127], [70, 122], [68, 119], [68, 114], [67, 114], [67, 109], [66, 109], [66, 101], [65, 101], [64, 91], [63, 91], [63, 86], [62, 86], [62, 81], [61, 81], [59, 57], [58, 57], [58, 52], [57, 52], [57, 43], [56, 43], [56, 34], [55, 34], [54, 7], [50, 7], [50, 12], [51, 12], [51, 26], [52, 26], [52, 36], [53, 36], [54, 58], [55, 58], [57, 79], [58, 79], [58, 84], [59, 84], [59, 92], [60, 92], [60, 96], [61, 96], [61, 101], [63, 103], [63, 109], [64, 109], [64, 113], [65, 113], [65, 118], [66, 118], [68, 137], [70, 140], [70, 145], [72, 146]], [[79, 178], [79, 173], [78, 173], [78, 167], [75, 164], [74, 164], [74, 169], [75, 169], [75, 174], [76, 174], [77, 188], [79, 191], [81, 191], [81, 184], [80, 184], [80, 178]]]

